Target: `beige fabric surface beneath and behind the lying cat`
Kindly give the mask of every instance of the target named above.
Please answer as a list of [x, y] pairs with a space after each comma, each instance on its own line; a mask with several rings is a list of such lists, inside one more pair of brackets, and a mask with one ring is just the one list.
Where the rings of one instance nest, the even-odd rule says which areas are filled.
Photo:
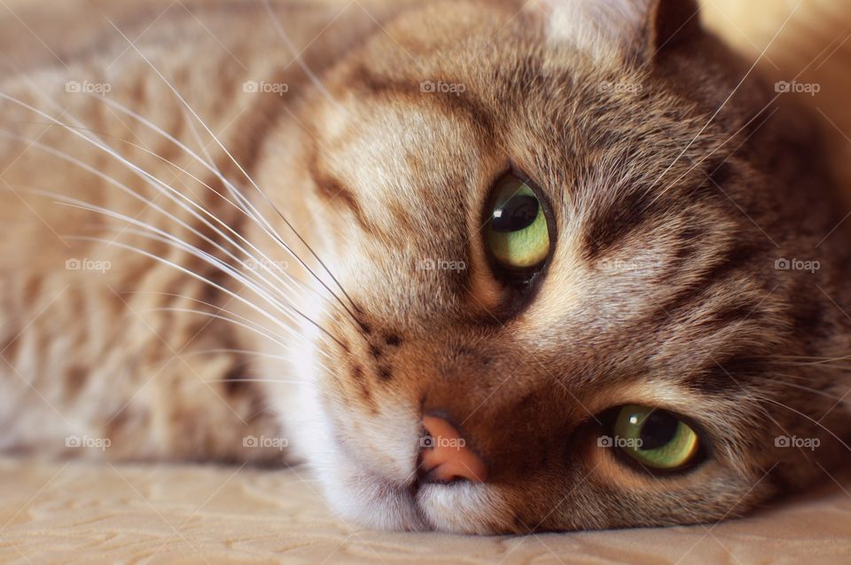
[[[769, 46], [763, 72], [802, 72], [799, 80], [822, 85], [804, 99], [847, 173], [851, 2], [704, 4], [710, 25], [740, 51], [755, 58]], [[0, 562], [851, 563], [849, 493], [851, 481], [824, 475], [806, 497], [717, 525], [468, 538], [340, 522], [302, 469], [0, 459]]]

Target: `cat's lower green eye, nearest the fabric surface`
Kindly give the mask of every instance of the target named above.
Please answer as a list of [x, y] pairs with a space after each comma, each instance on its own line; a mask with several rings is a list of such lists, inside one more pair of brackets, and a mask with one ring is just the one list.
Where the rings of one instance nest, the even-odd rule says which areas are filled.
[[698, 435], [670, 412], [629, 404], [614, 422], [621, 451], [642, 465], [674, 470], [687, 466], [699, 451]]

